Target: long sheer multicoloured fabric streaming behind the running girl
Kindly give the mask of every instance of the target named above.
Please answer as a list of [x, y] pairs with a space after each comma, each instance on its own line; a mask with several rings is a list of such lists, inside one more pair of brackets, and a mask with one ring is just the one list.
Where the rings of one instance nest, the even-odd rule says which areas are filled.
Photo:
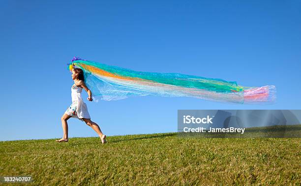
[[93, 98], [119, 100], [129, 96], [189, 96], [232, 103], [273, 103], [275, 86], [245, 87], [235, 81], [181, 73], [143, 72], [109, 66], [74, 57], [71, 61], [84, 70], [85, 83]]

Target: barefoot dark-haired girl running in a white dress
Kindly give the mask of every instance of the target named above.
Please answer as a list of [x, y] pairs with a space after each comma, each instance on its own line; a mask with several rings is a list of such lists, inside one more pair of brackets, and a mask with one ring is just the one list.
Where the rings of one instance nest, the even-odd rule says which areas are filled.
[[70, 117], [78, 118], [82, 121], [85, 121], [87, 125], [89, 125], [98, 135], [102, 143], [106, 142], [106, 135], [102, 134], [99, 126], [91, 121], [90, 115], [88, 112], [88, 108], [86, 103], [84, 103], [81, 93], [83, 88], [87, 91], [89, 97], [88, 100], [92, 101], [91, 98], [91, 91], [88, 89], [84, 82], [84, 72], [82, 69], [75, 69], [73, 65], [72, 69], [72, 79], [74, 80], [74, 85], [71, 87], [71, 97], [72, 97], [72, 104], [70, 107], [65, 111], [64, 115], [61, 116], [61, 125], [63, 129], [63, 137], [60, 140], [56, 140], [58, 142], [64, 141], [68, 142], [68, 124], [67, 120]]

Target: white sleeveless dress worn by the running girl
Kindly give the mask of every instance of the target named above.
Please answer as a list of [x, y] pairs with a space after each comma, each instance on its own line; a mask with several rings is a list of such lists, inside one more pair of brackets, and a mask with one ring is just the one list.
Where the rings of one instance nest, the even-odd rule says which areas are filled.
[[65, 111], [65, 114], [84, 121], [83, 118], [90, 119], [91, 117], [87, 105], [82, 99], [82, 90], [83, 88], [78, 87], [75, 84], [71, 87], [72, 104]]

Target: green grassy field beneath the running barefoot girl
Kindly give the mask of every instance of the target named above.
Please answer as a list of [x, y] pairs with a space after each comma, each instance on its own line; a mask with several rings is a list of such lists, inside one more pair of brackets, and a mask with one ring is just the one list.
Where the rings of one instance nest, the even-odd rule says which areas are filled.
[[165, 133], [107, 140], [0, 141], [0, 176], [30, 175], [36, 186], [301, 185], [300, 138]]

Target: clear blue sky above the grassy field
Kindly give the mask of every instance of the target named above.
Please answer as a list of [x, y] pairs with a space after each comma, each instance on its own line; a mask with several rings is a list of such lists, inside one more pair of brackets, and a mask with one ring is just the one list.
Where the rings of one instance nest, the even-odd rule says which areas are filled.
[[[85, 101], [109, 136], [176, 132], [178, 109], [301, 109], [299, 0], [1, 0], [0, 17], [0, 140], [62, 137], [73, 84], [66, 63], [75, 55], [277, 89], [273, 105], [154, 96]], [[68, 124], [69, 138], [97, 136], [80, 120]]]

